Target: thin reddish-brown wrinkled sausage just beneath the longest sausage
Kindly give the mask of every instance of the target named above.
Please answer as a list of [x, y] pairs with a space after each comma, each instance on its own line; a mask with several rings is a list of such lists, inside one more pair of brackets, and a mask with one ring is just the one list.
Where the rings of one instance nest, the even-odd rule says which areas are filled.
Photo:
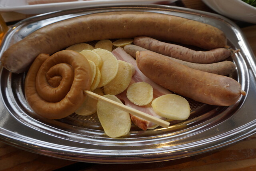
[[161, 42], [146, 36], [134, 38], [133, 43], [159, 54], [198, 64], [219, 62], [232, 54], [232, 51], [226, 48], [216, 48], [209, 51], [195, 51], [180, 45]]

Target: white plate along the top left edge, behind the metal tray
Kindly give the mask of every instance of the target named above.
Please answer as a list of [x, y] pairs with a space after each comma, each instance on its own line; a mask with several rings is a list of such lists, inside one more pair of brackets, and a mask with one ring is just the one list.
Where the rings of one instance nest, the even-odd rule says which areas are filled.
[[14, 11], [23, 14], [42, 14], [58, 10], [81, 8], [83, 6], [104, 6], [106, 4], [169, 4], [176, 0], [78, 0], [51, 4], [28, 5], [26, 0], [0, 0], [0, 11]]

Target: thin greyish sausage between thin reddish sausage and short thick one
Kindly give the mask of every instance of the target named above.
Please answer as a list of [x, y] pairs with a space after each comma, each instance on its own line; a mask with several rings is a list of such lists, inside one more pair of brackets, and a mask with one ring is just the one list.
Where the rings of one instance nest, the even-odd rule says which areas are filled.
[[[155, 58], [158, 58], [158, 56], [163, 56], [156, 52], [152, 52], [150, 50], [147, 50], [145, 48], [142, 48], [142, 47], [136, 46], [136, 45], [132, 45], [132, 44], [124, 46], [124, 50], [128, 54], [130, 54], [133, 58], [136, 58], [137, 51], [149, 51], [150, 53], [152, 53], [152, 55], [155, 56]], [[176, 58], [172, 58], [169, 56], [166, 56], [166, 57], [170, 58], [171, 60], [174, 60], [175, 62], [178, 62], [179, 64], [188, 66], [189, 68], [193, 68], [195, 70], [200, 70], [200, 71], [209, 72], [209, 73], [213, 73], [213, 74], [219, 74], [222, 76], [231, 74], [232, 72], [234, 72], [236, 70], [236, 65], [231, 61], [216, 62], [213, 64], [196, 64], [196, 63], [192, 63], [192, 62], [178, 60]]]

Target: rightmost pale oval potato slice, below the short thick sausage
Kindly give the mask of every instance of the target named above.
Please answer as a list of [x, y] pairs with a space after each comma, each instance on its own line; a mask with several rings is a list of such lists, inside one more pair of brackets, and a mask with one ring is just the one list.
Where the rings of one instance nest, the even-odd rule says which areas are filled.
[[154, 99], [151, 105], [158, 115], [168, 119], [185, 120], [190, 115], [189, 103], [180, 95], [162, 95]]

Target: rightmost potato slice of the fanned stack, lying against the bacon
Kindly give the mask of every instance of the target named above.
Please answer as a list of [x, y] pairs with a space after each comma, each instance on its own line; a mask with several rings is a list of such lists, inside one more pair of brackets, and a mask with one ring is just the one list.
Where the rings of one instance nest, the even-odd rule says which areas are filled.
[[132, 67], [128, 62], [118, 60], [118, 72], [116, 77], [105, 85], [104, 93], [117, 95], [122, 93], [132, 80]]

